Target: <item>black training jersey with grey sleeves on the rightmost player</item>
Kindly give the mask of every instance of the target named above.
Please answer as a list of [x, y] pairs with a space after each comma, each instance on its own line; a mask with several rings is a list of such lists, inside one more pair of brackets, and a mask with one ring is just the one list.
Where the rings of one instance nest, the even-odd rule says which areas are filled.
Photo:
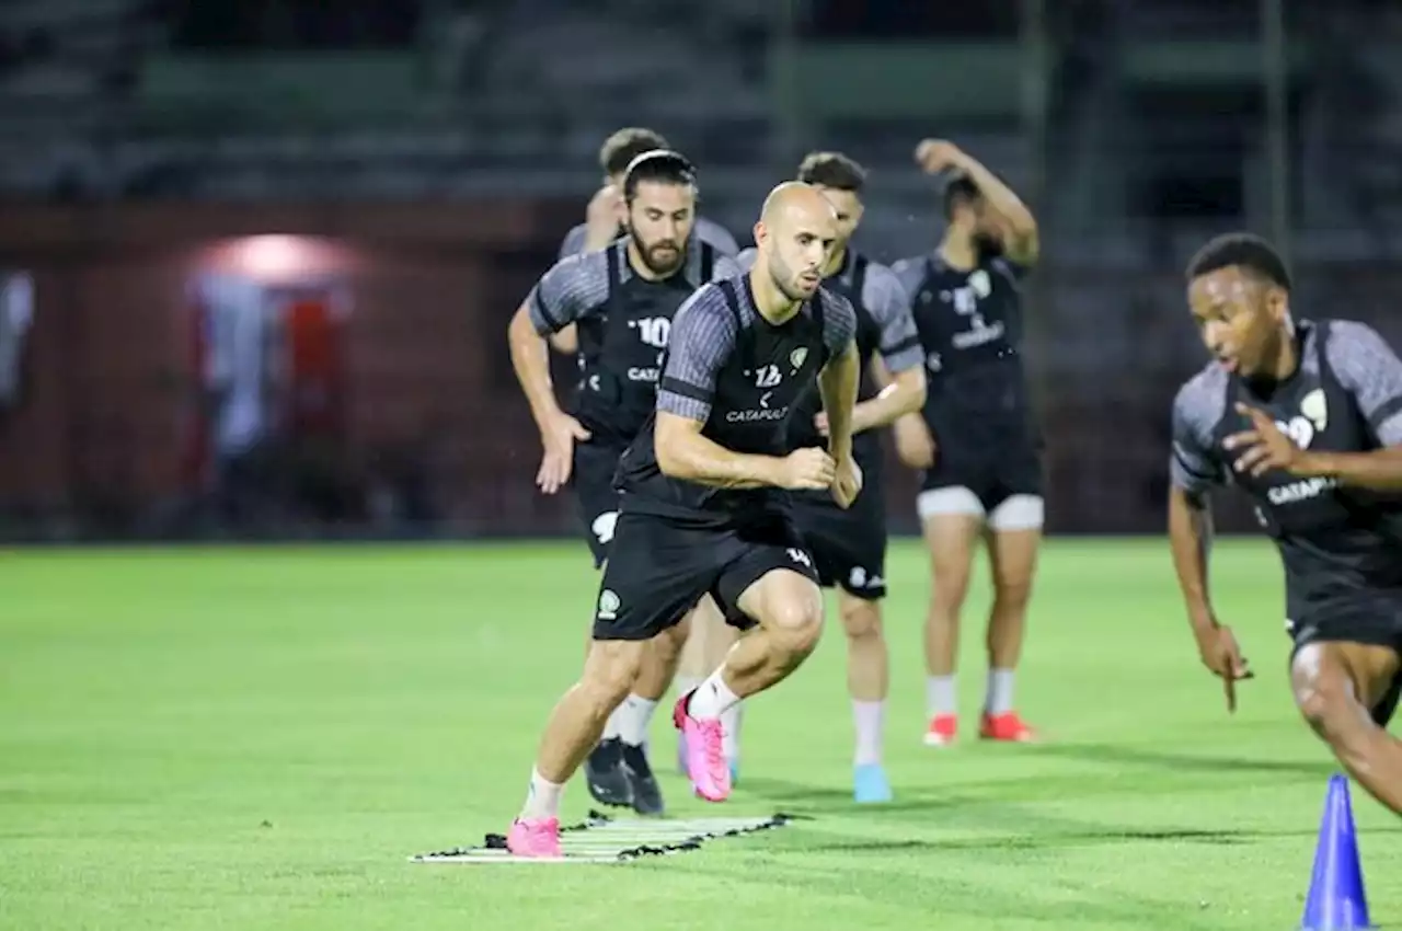
[[1235, 407], [1265, 411], [1301, 449], [1353, 453], [1398, 444], [1402, 362], [1360, 322], [1304, 321], [1295, 332], [1300, 366], [1283, 381], [1258, 384], [1213, 362], [1179, 390], [1169, 471], [1193, 495], [1232, 484], [1251, 496], [1280, 550], [1287, 613], [1298, 623], [1339, 597], [1402, 592], [1402, 498], [1332, 478], [1237, 473], [1232, 463], [1244, 450], [1227, 450], [1223, 442], [1251, 421]]

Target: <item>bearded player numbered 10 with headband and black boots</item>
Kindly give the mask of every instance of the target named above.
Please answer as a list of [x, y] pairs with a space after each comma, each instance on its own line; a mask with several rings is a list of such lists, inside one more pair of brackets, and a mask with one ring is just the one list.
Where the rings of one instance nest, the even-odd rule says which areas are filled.
[[[733, 259], [693, 234], [695, 172], [684, 157], [666, 150], [638, 156], [627, 168], [622, 191], [628, 236], [600, 252], [559, 261], [510, 324], [516, 377], [544, 446], [536, 481], [547, 495], [573, 481], [594, 565], [608, 558], [618, 517], [614, 470], [652, 414], [672, 317], [701, 285], [739, 273]], [[545, 348], [547, 335], [566, 325], [578, 328], [580, 344], [573, 415], [555, 398]], [[669, 632], [648, 652], [634, 694], [618, 707], [590, 756], [589, 789], [604, 805], [662, 812], [644, 743], [676, 672], [681, 648], [676, 639]]]

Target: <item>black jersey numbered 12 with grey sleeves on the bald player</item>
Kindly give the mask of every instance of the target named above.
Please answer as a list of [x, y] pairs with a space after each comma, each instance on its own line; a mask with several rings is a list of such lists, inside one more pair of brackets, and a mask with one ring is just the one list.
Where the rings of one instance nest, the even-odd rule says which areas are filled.
[[[749, 275], [707, 285], [677, 311], [656, 409], [700, 421], [704, 436], [735, 453], [787, 456], [796, 449], [788, 435], [796, 402], [855, 331], [852, 306], [824, 289], [775, 325], [756, 308]], [[777, 488], [722, 489], [663, 475], [655, 423], [618, 463], [624, 510], [728, 520], [787, 501]]]

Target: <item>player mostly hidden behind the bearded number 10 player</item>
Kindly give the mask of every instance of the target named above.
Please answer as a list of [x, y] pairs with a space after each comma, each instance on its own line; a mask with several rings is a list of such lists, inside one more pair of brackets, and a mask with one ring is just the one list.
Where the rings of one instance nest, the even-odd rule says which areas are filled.
[[[603, 170], [603, 186], [594, 193], [586, 209], [585, 223], [569, 230], [559, 244], [559, 258], [578, 252], [594, 252], [620, 236], [625, 234], [625, 210], [622, 205], [622, 177], [628, 164], [645, 151], [669, 150], [672, 146], [652, 129], [625, 126], [604, 140], [599, 150], [599, 167]], [[695, 219], [694, 236], [722, 255], [733, 257], [740, 251], [735, 237], [704, 216]], [[579, 351], [579, 338], [573, 324], [551, 334], [551, 346], [557, 352], [573, 355]], [[690, 637], [681, 651], [676, 676], [677, 688], [694, 688], [707, 673], [725, 659], [726, 651], [735, 644], [737, 631], [728, 627], [715, 603], [705, 597], [691, 614]], [[726, 714], [725, 745], [732, 773], [739, 768], [740, 756], [740, 714], [736, 705]], [[677, 743], [677, 767], [686, 774], [686, 742]]]

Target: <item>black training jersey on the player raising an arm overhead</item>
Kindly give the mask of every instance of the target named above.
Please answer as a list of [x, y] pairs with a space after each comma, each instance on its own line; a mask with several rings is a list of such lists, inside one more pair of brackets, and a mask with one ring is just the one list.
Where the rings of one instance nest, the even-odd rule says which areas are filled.
[[1001, 255], [969, 271], [938, 252], [896, 262], [925, 351], [925, 419], [948, 442], [966, 428], [1030, 425], [1022, 360], [1022, 280], [1029, 269]]

